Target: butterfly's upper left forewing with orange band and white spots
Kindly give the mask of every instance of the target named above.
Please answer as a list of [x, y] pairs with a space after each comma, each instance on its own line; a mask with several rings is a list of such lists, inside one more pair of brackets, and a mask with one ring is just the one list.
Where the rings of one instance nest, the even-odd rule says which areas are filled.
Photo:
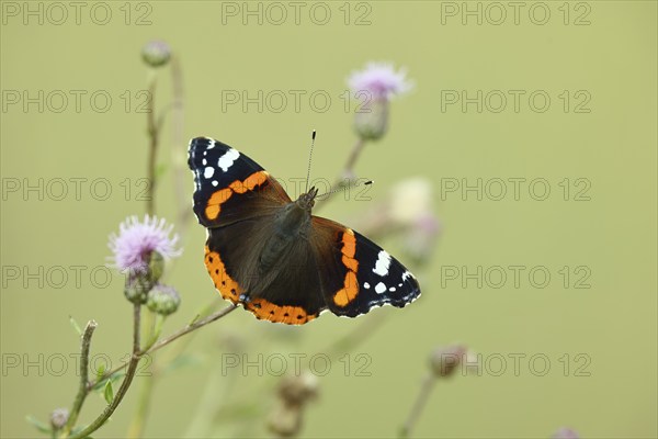
[[222, 142], [197, 137], [188, 153], [194, 172], [194, 213], [205, 227], [270, 215], [291, 202], [260, 165]]

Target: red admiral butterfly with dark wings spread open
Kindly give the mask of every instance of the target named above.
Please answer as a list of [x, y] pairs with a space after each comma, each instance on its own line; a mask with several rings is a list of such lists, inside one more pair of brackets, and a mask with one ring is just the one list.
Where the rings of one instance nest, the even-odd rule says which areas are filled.
[[292, 201], [256, 161], [212, 138], [192, 139], [188, 165], [208, 273], [257, 318], [303, 325], [327, 308], [355, 317], [420, 295], [413, 274], [376, 244], [310, 214], [316, 188]]

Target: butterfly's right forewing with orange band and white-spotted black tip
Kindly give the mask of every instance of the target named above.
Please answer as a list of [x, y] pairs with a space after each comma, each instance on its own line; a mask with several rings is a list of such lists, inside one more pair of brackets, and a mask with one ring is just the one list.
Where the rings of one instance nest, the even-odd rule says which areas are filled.
[[374, 306], [402, 307], [420, 295], [413, 274], [372, 240], [318, 216], [313, 227], [321, 288], [333, 314], [355, 317]]

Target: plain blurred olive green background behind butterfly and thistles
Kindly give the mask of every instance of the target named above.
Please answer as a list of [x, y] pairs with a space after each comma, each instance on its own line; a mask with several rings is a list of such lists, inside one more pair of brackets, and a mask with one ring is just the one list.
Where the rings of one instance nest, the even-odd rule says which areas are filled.
[[[258, 401], [264, 415], [256, 412], [256, 419], [247, 423], [224, 419], [218, 427], [204, 426], [207, 413], [226, 395], [223, 381], [229, 380], [219, 364], [222, 352], [232, 348], [220, 340], [230, 337], [250, 361], [259, 353], [310, 357], [359, 330], [366, 319], [383, 318], [384, 325], [350, 351], [350, 373], [344, 373], [344, 362], [333, 361], [330, 373], [319, 379], [320, 397], [306, 410], [304, 436], [395, 436], [427, 373], [429, 352], [461, 341], [483, 356], [484, 371], [480, 376], [458, 375], [439, 383], [415, 436], [542, 438], [569, 426], [589, 438], [656, 437], [656, 2], [568, 3], [567, 25], [563, 3], [543, 3], [551, 11], [544, 25], [529, 18], [534, 2], [523, 3], [518, 24], [513, 10], [506, 7], [508, 16], [500, 25], [492, 23], [498, 12], [487, 9], [487, 2], [468, 3], [473, 10], [481, 8], [481, 24], [473, 16], [463, 24], [462, 15], [443, 13], [466, 3], [431, 1], [350, 3], [347, 25], [343, 2], [326, 3], [331, 18], [325, 25], [310, 20], [310, 3], [304, 3], [298, 25], [291, 8], [280, 25], [269, 22], [268, 15], [262, 24], [256, 16], [243, 24], [241, 16], [223, 15], [223, 3], [214, 1], [133, 4], [128, 24], [124, 2], [106, 2], [113, 14], [105, 25], [90, 19], [93, 3], [86, 3], [80, 24], [70, 8], [68, 20], [59, 25], [47, 16], [43, 24], [35, 18], [24, 24], [22, 16], [3, 13], [3, 92], [84, 90], [89, 97], [105, 90], [113, 99], [105, 113], [94, 111], [84, 98], [77, 112], [71, 94], [60, 113], [48, 106], [39, 113], [36, 104], [26, 112], [21, 104], [3, 106], [3, 184], [24, 178], [33, 184], [39, 178], [44, 182], [105, 178], [113, 190], [105, 201], [91, 196], [89, 185], [76, 200], [72, 184], [63, 201], [48, 196], [39, 201], [36, 192], [27, 198], [20, 192], [3, 195], [3, 270], [101, 266], [109, 255], [107, 235], [126, 216], [144, 212], [135, 193], [139, 187], [132, 185], [126, 201], [120, 183], [126, 178], [135, 182], [145, 172], [146, 114], [136, 111], [141, 101], [135, 97], [146, 88], [147, 69], [139, 58], [145, 42], [163, 38], [180, 59], [185, 142], [197, 135], [217, 137], [282, 178], [305, 176], [308, 136], [315, 128], [314, 176], [333, 179], [354, 142], [353, 109], [345, 111], [340, 98], [345, 77], [368, 60], [393, 61], [407, 67], [416, 87], [393, 102], [388, 135], [368, 145], [358, 164], [360, 176], [376, 180], [368, 193], [373, 201], [336, 200], [322, 214], [348, 222], [384, 200], [398, 180], [430, 179], [443, 229], [431, 261], [417, 270], [423, 295], [404, 311], [376, 309], [358, 320], [326, 314], [292, 329], [237, 311], [193, 337], [188, 347], [196, 358], [193, 364], [157, 382], [146, 435], [266, 436], [263, 418], [277, 381], [258, 376], [253, 368], [246, 376], [230, 379], [238, 385], [229, 395]], [[245, 8], [242, 2], [230, 5]], [[258, 3], [249, 7], [256, 9]], [[533, 11], [535, 21], [542, 18], [541, 10]], [[364, 12], [370, 24], [355, 25]], [[143, 13], [150, 24], [136, 25]], [[582, 13], [589, 24], [575, 25]], [[156, 105], [162, 108], [171, 101], [169, 68], [158, 75]], [[126, 90], [133, 95], [127, 112], [121, 98]], [[247, 111], [239, 104], [223, 109], [226, 90], [247, 90], [252, 97], [258, 90], [265, 94], [282, 90], [291, 100], [281, 112], [268, 106], [259, 112], [254, 104]], [[297, 112], [288, 90], [303, 90], [306, 97], [324, 90], [331, 104], [320, 112], [303, 98]], [[491, 106], [478, 113], [475, 104], [466, 111], [458, 104], [442, 111], [445, 90], [466, 90], [470, 97], [477, 90], [485, 95], [500, 90], [510, 100], [498, 113]], [[525, 92], [519, 112], [509, 90]], [[543, 113], [527, 103], [535, 90], [552, 99]], [[558, 97], [564, 90], [571, 95], [567, 112]], [[578, 91], [591, 97], [589, 113], [575, 111]], [[4, 97], [2, 104], [8, 104]], [[167, 168], [157, 209], [173, 221], [171, 119], [163, 133], [160, 161]], [[178, 159], [184, 157], [185, 147], [177, 146]], [[185, 177], [184, 190], [191, 196], [192, 177]], [[500, 201], [487, 192], [483, 200], [474, 192], [465, 198], [458, 192], [441, 194], [445, 179], [473, 184], [478, 178], [484, 183], [495, 178], [542, 178], [552, 192], [545, 201], [536, 201], [522, 185], [514, 200], [508, 183], [508, 194]], [[565, 178], [587, 179], [590, 200], [575, 201], [574, 193], [563, 200], [558, 183]], [[190, 225], [184, 255], [168, 279], [183, 303], [164, 333], [184, 325], [214, 297], [202, 263], [204, 237], [202, 227]], [[382, 244], [399, 251], [396, 239]], [[543, 266], [552, 280], [544, 289], [533, 286], [527, 277], [521, 278], [520, 288], [511, 279], [498, 289], [487, 283], [478, 288], [473, 280], [463, 286], [461, 280], [445, 278], [442, 285], [442, 270], [449, 266], [469, 272], [478, 266], [485, 270], [524, 266], [524, 273]], [[565, 288], [558, 273], [564, 266], [587, 267], [591, 288], [575, 289], [574, 273]], [[94, 354], [106, 354], [117, 364], [129, 349], [131, 307], [122, 294], [122, 280], [115, 275], [109, 286], [99, 289], [84, 273], [80, 288], [71, 278], [61, 289], [47, 283], [39, 288], [34, 280], [24, 288], [23, 278], [3, 278], [2, 437], [35, 436], [25, 415], [47, 419], [53, 408], [70, 405], [77, 381], [69, 356], [77, 352], [78, 339], [69, 315], [80, 323], [90, 318], [99, 323]], [[354, 359], [358, 353], [371, 359], [370, 376], [355, 373], [361, 364]], [[518, 373], [510, 357], [515, 354], [525, 356]], [[576, 361], [578, 354], [582, 356]], [[533, 356], [549, 360], [543, 376], [537, 373], [541, 361], [535, 369], [529, 364]], [[68, 359], [68, 369], [56, 376], [53, 370], [61, 363], [55, 361], [61, 357]], [[42, 370], [9, 368], [8, 361], [15, 358], [42, 364]], [[507, 360], [507, 369], [499, 373], [500, 358]], [[588, 364], [578, 369], [586, 360]], [[139, 378], [112, 423], [94, 437], [125, 435], [138, 392]], [[230, 405], [231, 399], [224, 403]], [[102, 407], [102, 398], [91, 395], [81, 420], [90, 421]]]

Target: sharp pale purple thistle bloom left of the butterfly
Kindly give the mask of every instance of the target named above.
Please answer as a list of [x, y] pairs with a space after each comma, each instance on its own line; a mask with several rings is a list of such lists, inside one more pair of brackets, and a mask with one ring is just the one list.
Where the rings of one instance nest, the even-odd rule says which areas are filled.
[[169, 237], [172, 228], [156, 216], [145, 215], [144, 222], [139, 222], [137, 216], [126, 218], [118, 226], [118, 235], [110, 235], [112, 266], [122, 272], [145, 273], [154, 251], [164, 259], [179, 256], [181, 250], [174, 248], [178, 235]]

